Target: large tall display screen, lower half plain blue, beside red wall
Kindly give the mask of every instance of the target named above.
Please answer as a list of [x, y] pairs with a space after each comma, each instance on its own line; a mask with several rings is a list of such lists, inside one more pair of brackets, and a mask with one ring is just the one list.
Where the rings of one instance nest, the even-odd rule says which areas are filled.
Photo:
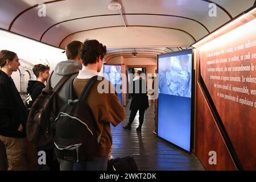
[[191, 151], [192, 49], [158, 57], [158, 136]]

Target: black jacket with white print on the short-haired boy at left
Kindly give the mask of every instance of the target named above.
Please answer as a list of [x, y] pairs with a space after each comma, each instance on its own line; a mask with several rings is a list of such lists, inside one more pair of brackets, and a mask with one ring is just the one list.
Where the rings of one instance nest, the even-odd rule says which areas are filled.
[[42, 93], [42, 90], [46, 88], [46, 85], [43, 82], [30, 80], [27, 84], [27, 109], [30, 109], [36, 98]]

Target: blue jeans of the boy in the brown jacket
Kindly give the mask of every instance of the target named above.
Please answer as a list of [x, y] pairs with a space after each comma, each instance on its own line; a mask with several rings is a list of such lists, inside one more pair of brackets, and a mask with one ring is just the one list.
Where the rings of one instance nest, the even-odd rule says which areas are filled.
[[73, 164], [73, 171], [106, 171], [108, 156], [96, 156], [92, 161], [82, 161]]

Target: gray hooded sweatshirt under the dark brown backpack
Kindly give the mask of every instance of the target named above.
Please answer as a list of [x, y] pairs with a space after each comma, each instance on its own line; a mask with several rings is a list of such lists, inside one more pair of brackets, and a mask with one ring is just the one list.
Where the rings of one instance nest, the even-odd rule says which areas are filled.
[[61, 61], [56, 65], [50, 80], [52, 88], [57, 85], [57, 82], [59, 82], [63, 76], [73, 74], [56, 93], [58, 110], [68, 102], [69, 83], [78, 75], [81, 69], [82, 65], [75, 60]]

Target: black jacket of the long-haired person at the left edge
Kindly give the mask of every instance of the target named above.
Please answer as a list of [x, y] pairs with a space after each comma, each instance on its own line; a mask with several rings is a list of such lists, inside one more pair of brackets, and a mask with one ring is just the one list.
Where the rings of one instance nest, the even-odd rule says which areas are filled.
[[[0, 135], [12, 138], [26, 137], [27, 108], [13, 82], [0, 71]], [[20, 123], [23, 131], [19, 132]]]

